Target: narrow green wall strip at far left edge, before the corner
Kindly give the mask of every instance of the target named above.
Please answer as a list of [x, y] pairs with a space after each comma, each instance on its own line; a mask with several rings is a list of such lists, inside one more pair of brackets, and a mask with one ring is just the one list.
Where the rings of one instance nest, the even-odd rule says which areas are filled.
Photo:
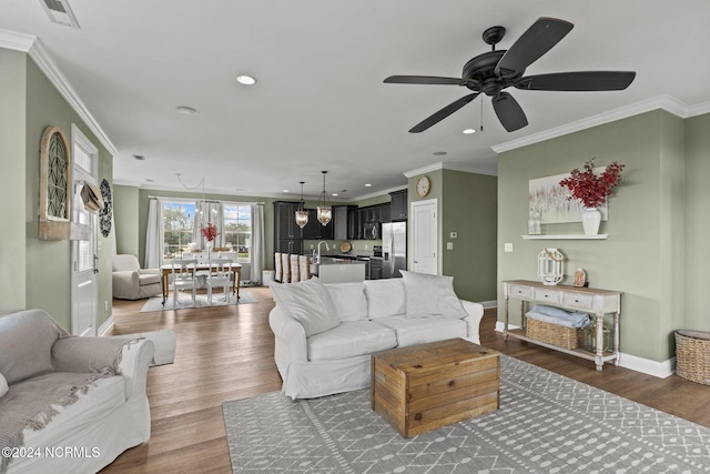
[[[0, 213], [4, 230], [0, 245], [0, 311], [27, 306], [26, 235], [37, 233], [26, 219], [27, 54], [0, 48]], [[39, 178], [38, 178], [39, 181]]]

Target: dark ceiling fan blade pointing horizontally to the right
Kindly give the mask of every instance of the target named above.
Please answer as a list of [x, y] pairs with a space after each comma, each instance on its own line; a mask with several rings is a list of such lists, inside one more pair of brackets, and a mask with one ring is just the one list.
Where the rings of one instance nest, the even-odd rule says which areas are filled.
[[633, 71], [557, 72], [521, 78], [515, 87], [532, 91], [620, 91], [633, 78]]

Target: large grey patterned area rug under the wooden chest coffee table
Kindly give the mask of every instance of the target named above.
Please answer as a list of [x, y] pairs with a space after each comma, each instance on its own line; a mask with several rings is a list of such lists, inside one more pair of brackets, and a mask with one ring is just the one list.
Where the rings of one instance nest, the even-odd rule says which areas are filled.
[[[408, 440], [369, 390], [222, 405], [234, 472], [636, 473], [710, 471], [710, 430], [513, 357], [500, 409]], [[590, 370], [594, 370], [590, 369]]]

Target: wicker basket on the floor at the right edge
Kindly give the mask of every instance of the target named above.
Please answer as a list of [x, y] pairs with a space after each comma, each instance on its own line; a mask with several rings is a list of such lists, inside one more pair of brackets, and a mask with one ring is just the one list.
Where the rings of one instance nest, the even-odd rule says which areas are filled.
[[676, 374], [710, 385], [710, 333], [676, 331]]

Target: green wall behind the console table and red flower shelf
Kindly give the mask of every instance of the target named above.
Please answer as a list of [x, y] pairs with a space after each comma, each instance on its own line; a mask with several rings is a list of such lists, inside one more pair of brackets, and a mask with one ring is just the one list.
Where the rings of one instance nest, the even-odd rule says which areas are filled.
[[[627, 165], [625, 182], [609, 201], [609, 220], [601, 223], [608, 240], [523, 240], [528, 181], [567, 173], [592, 157], [597, 165]], [[500, 282], [537, 280], [537, 254], [557, 248], [567, 256], [567, 275], [582, 268], [590, 286], [623, 292], [621, 352], [653, 361], [671, 357], [672, 331], [686, 313], [684, 161], [683, 120], [660, 110], [501, 153], [498, 319], [504, 311]], [[582, 233], [581, 223], [544, 225], [544, 233]], [[513, 253], [503, 251], [506, 242], [514, 244]], [[567, 276], [562, 283], [570, 282]], [[510, 314], [519, 314], [514, 305]]]

